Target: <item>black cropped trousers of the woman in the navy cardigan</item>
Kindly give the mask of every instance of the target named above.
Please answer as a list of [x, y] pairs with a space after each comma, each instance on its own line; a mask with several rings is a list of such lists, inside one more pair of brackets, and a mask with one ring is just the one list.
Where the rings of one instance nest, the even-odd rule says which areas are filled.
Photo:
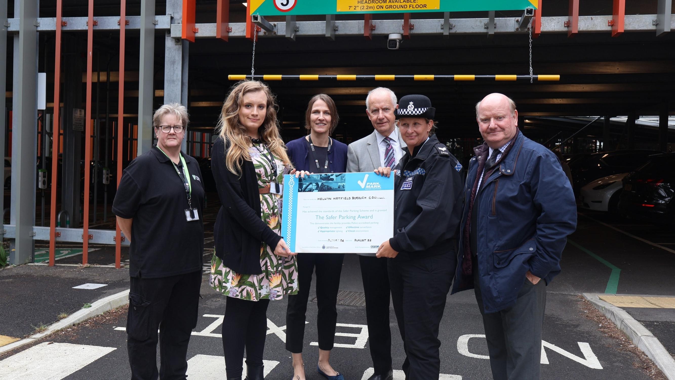
[[304, 322], [307, 312], [312, 273], [317, 271], [317, 331], [319, 348], [330, 351], [335, 342], [338, 321], [338, 290], [344, 253], [301, 253], [298, 261], [298, 294], [288, 296], [286, 308], [286, 350], [300, 354], [304, 342]]

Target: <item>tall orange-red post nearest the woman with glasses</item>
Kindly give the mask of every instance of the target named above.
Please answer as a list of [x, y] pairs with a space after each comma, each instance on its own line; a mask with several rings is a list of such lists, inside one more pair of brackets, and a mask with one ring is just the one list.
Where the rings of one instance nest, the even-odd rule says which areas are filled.
[[[167, 7], [168, 8], [168, 7]], [[168, 9], [167, 9], [168, 11]], [[124, 38], [126, 38], [126, 0], [119, 6], [119, 94], [117, 94], [117, 187], [122, 179], [122, 146], [124, 144]], [[121, 231], [115, 222], [115, 268], [121, 267]]]

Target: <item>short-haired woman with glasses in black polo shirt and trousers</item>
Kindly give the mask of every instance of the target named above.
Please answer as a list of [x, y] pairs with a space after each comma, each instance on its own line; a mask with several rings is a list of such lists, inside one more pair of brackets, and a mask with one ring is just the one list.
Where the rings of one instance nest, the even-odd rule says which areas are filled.
[[113, 201], [131, 242], [126, 331], [132, 379], [182, 379], [188, 369], [202, 281], [204, 188], [197, 161], [180, 151], [187, 125], [183, 105], [155, 111], [157, 145], [124, 169]]

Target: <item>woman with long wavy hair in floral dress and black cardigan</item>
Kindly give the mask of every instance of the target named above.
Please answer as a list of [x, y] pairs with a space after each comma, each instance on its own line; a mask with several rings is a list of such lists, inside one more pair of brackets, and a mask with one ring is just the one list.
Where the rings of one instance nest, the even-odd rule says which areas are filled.
[[292, 165], [279, 136], [274, 97], [254, 81], [231, 90], [213, 144], [211, 167], [221, 207], [211, 286], [227, 296], [223, 350], [227, 379], [263, 380], [267, 306], [298, 292], [295, 254], [281, 238], [281, 189]]

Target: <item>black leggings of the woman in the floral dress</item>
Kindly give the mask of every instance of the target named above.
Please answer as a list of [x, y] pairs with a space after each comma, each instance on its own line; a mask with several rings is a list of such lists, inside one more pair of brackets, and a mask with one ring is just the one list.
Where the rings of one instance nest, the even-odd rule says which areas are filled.
[[267, 336], [269, 300], [247, 301], [227, 297], [223, 319], [223, 351], [227, 378], [241, 377], [246, 346], [246, 365], [261, 367]]

